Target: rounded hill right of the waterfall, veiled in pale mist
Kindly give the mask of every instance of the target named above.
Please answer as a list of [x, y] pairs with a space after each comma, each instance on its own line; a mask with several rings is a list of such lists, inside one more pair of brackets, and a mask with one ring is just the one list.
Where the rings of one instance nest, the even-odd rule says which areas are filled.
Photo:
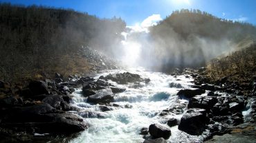
[[200, 10], [177, 10], [150, 29], [156, 59], [170, 67], [201, 67], [217, 56], [248, 47], [256, 28], [219, 19]]

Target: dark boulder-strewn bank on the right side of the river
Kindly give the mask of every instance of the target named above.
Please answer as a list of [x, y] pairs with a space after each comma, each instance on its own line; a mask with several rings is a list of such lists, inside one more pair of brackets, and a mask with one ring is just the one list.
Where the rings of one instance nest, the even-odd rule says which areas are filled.
[[[188, 100], [188, 104], [171, 106], [159, 115], [166, 120], [166, 115], [183, 113], [185, 107], [181, 120], [169, 118], [166, 124], [170, 127], [178, 125], [179, 130], [189, 135], [202, 135], [205, 142], [256, 142], [256, 77], [247, 83], [224, 77], [210, 84], [210, 80], [203, 76], [203, 70], [176, 70], [178, 72], [172, 74], [192, 77], [195, 85], [177, 93], [180, 99]], [[182, 88], [173, 83], [170, 87]], [[242, 111], [248, 112], [246, 116]], [[170, 129], [160, 124], [151, 124], [140, 133], [145, 135], [144, 143], [167, 142], [171, 135]], [[169, 134], [166, 136], [166, 133]]]

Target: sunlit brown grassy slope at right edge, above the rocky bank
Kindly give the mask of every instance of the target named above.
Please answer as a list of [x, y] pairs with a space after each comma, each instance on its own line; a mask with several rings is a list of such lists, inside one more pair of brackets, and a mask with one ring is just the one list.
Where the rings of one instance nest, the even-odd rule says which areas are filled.
[[250, 83], [256, 75], [256, 43], [228, 56], [213, 59], [208, 63], [205, 74], [212, 81], [230, 77], [232, 81]]

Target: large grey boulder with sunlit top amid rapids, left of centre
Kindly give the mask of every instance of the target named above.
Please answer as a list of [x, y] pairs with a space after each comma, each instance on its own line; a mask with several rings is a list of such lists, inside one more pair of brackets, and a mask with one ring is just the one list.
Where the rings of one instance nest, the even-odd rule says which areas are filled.
[[93, 102], [95, 104], [113, 102], [113, 93], [110, 88], [101, 89], [96, 91], [96, 94], [93, 96], [89, 96], [87, 102]]

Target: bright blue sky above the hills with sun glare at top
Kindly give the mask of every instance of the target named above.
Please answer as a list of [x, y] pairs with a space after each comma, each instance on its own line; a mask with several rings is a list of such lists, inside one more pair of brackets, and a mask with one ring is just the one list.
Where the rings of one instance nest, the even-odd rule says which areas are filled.
[[[23, 5], [48, 5], [88, 12], [100, 18], [121, 17], [127, 25], [142, 23], [153, 14], [164, 19], [181, 8], [199, 9], [223, 19], [256, 25], [256, 0], [0, 0]], [[160, 15], [159, 15], [160, 14]]]

